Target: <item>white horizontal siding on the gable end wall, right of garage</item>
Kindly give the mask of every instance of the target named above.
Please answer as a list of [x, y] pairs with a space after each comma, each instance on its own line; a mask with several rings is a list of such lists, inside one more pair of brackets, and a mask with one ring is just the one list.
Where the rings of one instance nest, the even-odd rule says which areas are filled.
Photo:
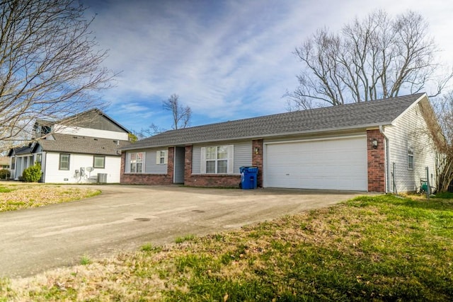
[[[435, 183], [435, 152], [427, 135], [427, 125], [419, 105], [415, 105], [394, 122], [385, 127], [389, 137], [389, 165], [395, 163], [397, 192], [411, 192], [420, 187], [420, 178], [426, 178], [425, 167], [430, 170], [430, 182]], [[413, 169], [408, 168], [408, 142], [413, 146]], [[432, 178], [431, 178], [432, 174]], [[393, 179], [389, 178], [389, 189], [393, 192]]]

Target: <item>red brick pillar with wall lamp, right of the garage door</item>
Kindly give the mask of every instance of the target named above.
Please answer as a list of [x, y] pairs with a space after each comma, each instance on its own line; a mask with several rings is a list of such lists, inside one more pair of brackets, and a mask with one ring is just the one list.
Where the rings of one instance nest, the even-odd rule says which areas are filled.
[[[377, 139], [377, 148], [372, 146]], [[368, 192], [385, 192], [385, 141], [379, 129], [367, 130]]]

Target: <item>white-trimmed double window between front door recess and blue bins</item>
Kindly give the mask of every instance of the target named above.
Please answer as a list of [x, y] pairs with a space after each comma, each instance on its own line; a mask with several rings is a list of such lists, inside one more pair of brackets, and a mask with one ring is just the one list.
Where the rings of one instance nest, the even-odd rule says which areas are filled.
[[202, 174], [231, 174], [233, 167], [233, 145], [201, 148]]

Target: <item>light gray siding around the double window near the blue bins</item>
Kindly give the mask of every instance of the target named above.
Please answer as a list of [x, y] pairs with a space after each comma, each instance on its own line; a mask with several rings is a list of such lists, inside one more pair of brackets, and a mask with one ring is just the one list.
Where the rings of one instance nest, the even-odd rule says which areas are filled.
[[[216, 146], [229, 146], [233, 145], [234, 152], [230, 154], [232, 157], [232, 166], [231, 161], [229, 169], [231, 174], [240, 174], [239, 167], [250, 166], [252, 164], [252, 142], [251, 141], [241, 141], [241, 142], [226, 142], [219, 143]], [[214, 146], [210, 144], [209, 146]], [[202, 174], [201, 172], [201, 163], [202, 163], [202, 147], [206, 146], [193, 146], [192, 150], [192, 173], [193, 174]]]

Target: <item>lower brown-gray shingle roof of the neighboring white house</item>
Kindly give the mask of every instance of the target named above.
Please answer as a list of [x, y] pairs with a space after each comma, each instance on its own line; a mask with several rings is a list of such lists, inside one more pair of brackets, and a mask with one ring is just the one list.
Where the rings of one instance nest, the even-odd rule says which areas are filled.
[[117, 149], [129, 144], [129, 141], [119, 141], [117, 144], [117, 140], [114, 139], [81, 137], [71, 134], [52, 134], [52, 137], [55, 140], [38, 141], [44, 151], [119, 156]]

